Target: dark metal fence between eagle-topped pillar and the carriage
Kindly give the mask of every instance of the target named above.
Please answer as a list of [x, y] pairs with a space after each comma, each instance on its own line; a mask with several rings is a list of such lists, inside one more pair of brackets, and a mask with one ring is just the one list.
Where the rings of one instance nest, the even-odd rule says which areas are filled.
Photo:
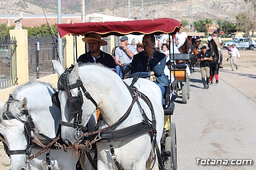
[[[55, 40], [53, 42], [53, 40]], [[62, 40], [63, 49], [66, 47], [66, 39]], [[56, 48], [55, 48], [56, 47]], [[54, 73], [52, 60], [57, 57], [58, 41], [52, 37], [28, 38], [28, 74], [29, 79], [36, 79]], [[63, 65], [66, 65], [66, 53], [63, 53]]]

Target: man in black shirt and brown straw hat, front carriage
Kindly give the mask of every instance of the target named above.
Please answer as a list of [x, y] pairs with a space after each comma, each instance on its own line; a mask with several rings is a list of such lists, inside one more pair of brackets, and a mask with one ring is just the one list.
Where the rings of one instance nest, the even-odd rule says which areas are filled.
[[80, 55], [77, 62], [80, 63], [100, 63], [116, 71], [116, 64], [113, 57], [100, 50], [100, 46], [107, 45], [108, 43], [101, 39], [100, 34], [90, 33], [88, 37], [82, 39], [83, 42], [88, 44], [89, 51]]

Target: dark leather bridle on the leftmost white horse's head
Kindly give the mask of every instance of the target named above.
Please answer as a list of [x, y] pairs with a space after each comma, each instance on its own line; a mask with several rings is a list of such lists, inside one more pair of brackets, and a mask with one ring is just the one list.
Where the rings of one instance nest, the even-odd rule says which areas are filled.
[[[4, 112], [4, 114], [2, 115], [3, 119], [4, 120], [11, 120], [11, 119], [17, 119], [18, 121], [22, 122], [24, 124], [24, 130], [25, 130], [25, 136], [27, 134], [28, 136], [28, 144], [26, 146], [26, 149], [24, 150], [9, 150], [8, 149], [8, 146], [6, 145], [5, 142], [3, 142], [4, 144], [4, 150], [6, 152], [6, 154], [10, 157], [10, 155], [14, 155], [14, 154], [26, 154], [26, 164], [29, 165], [29, 156], [31, 154], [31, 151], [32, 151], [32, 147], [33, 147], [33, 139], [34, 137], [32, 136], [31, 132], [35, 130], [35, 125], [33, 123], [33, 119], [32, 117], [30, 116], [30, 114], [28, 113], [28, 110], [24, 109], [22, 110], [20, 113], [21, 113], [21, 116], [26, 116], [26, 121], [23, 121], [21, 120], [19, 117], [14, 117], [12, 115], [12, 113], [10, 113], [9, 111], [9, 108], [10, 108], [10, 103], [13, 103], [13, 102], [19, 102], [19, 100], [17, 99], [14, 99], [12, 94], [9, 95], [9, 99], [8, 101], [6, 102], [6, 111]], [[0, 134], [0, 136], [4, 139], [4, 136], [2, 134]]]

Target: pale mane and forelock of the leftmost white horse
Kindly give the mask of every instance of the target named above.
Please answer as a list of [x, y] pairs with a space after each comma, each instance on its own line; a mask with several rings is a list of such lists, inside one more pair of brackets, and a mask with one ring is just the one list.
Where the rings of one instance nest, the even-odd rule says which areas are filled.
[[[44, 85], [44, 86], [46, 85], [46, 86], [50, 86], [51, 88], [54, 88], [50, 83], [44, 83], [44, 82], [40, 82], [40, 81], [29, 81], [27, 83], [24, 83], [24, 84], [16, 87], [16, 89], [12, 92], [12, 96], [14, 99], [21, 100], [21, 96], [20, 96], [21, 91], [25, 91], [26, 89], [28, 89], [30, 87], [36, 87], [39, 85]], [[17, 105], [18, 105], [18, 101], [12, 101], [10, 103], [9, 112], [18, 121], [26, 121], [26, 117], [22, 116], [22, 114], [20, 113], [20, 110], [17, 108]], [[3, 105], [3, 107], [0, 109], [0, 125], [4, 125], [4, 126], [8, 127], [9, 124], [7, 124], [6, 121], [4, 121], [4, 119], [3, 119], [3, 114], [6, 111], [6, 108], [7, 108], [7, 104], [5, 103]], [[26, 109], [29, 112], [29, 109], [28, 108], [26, 108]], [[6, 117], [8, 120], [10, 120], [8, 115], [6, 115]]]

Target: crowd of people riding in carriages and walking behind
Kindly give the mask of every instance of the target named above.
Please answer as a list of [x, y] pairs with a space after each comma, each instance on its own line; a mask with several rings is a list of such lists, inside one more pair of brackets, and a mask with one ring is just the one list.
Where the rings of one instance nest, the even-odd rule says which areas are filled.
[[[170, 38], [170, 39], [169, 39]], [[109, 67], [123, 79], [123, 73], [128, 64], [131, 64], [131, 77], [139, 76], [150, 81], [153, 81], [161, 89], [162, 96], [165, 92], [165, 86], [168, 86], [168, 77], [170, 71], [166, 63], [170, 60], [169, 53], [180, 53], [178, 47], [183, 44], [188, 36], [182, 29], [174, 37], [174, 45], [172, 45], [172, 37], [168, 34], [162, 36], [161, 40], [159, 37], [155, 37], [153, 34], [145, 35], [142, 41], [135, 38], [129, 40], [129, 36], [123, 36], [120, 39], [120, 46], [114, 49], [114, 58], [100, 50], [101, 46], [107, 45], [107, 42], [102, 40], [100, 34], [90, 33], [87, 38], [83, 38], [82, 41], [88, 44], [89, 51], [85, 54], [80, 55], [78, 62], [81, 63], [100, 63], [106, 67]], [[216, 45], [220, 47], [222, 40], [218, 37], [218, 32], [214, 31], [213, 35], [207, 40], [214, 40]], [[129, 42], [130, 41], [130, 42]], [[201, 37], [194, 37], [194, 43], [196, 47], [200, 46]], [[134, 48], [134, 46], [136, 48]], [[199, 48], [200, 49], [200, 48]], [[221, 50], [219, 51], [222, 55]], [[235, 44], [232, 47], [228, 47], [229, 57], [226, 59], [230, 60], [232, 71], [234, 67], [236, 70], [236, 57], [240, 57], [238, 49]], [[213, 53], [207, 50], [206, 46], [203, 46], [200, 53], [198, 53], [197, 61], [200, 61], [200, 71], [203, 82], [203, 89], [209, 89], [209, 83], [212, 83], [213, 76], [210, 75], [210, 61], [212, 60]], [[221, 63], [220, 63], [221, 64]], [[168, 75], [168, 76], [166, 76]], [[206, 80], [205, 80], [206, 77]], [[218, 84], [218, 74], [215, 73], [216, 83]]]

